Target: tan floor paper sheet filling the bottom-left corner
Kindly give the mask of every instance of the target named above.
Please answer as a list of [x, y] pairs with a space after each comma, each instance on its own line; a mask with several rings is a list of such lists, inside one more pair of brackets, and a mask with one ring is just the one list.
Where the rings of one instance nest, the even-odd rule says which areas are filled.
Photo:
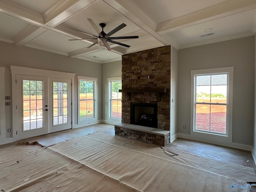
[[134, 192], [46, 147], [0, 146], [0, 192]]

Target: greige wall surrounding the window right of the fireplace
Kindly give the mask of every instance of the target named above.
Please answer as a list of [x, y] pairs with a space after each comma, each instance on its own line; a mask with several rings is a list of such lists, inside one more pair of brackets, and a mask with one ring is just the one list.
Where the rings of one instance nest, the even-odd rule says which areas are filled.
[[[240, 144], [242, 148], [252, 145], [254, 54], [254, 36], [179, 50], [179, 136], [191, 138], [190, 70], [234, 66], [232, 142]], [[183, 129], [184, 125], [186, 129]], [[204, 138], [200, 138], [200, 140], [205, 141]], [[237, 147], [239, 148], [239, 146]]]

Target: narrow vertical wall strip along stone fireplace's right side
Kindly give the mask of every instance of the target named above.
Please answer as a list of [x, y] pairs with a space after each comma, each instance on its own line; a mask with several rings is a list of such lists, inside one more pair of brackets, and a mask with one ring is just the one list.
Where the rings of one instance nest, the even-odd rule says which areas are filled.
[[172, 47], [171, 51], [171, 113], [170, 113], [170, 142], [177, 138], [178, 115], [178, 51]]

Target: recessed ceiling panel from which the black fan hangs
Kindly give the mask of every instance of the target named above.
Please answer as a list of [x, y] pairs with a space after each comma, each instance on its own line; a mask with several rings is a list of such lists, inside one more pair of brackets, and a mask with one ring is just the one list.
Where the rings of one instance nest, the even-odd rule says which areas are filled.
[[105, 23], [106, 27], [104, 28], [104, 32], [106, 33], [110, 32], [122, 23], [127, 25], [118, 32], [114, 33], [112, 36], [123, 36], [125, 34], [140, 30], [138, 26], [124, 16], [120, 15], [118, 12], [114, 11], [102, 1], [97, 1], [91, 6], [88, 6], [84, 10], [78, 12], [63, 22], [62, 26], [70, 26], [71, 28], [98, 36], [87, 18], [91, 18], [100, 31], [102, 31], [102, 28], [100, 28], [99, 24]]

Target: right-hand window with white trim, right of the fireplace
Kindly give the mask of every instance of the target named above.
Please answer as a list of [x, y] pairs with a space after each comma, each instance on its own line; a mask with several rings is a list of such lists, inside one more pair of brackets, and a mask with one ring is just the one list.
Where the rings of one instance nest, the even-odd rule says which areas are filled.
[[191, 71], [194, 131], [228, 135], [231, 72], [233, 67]]

